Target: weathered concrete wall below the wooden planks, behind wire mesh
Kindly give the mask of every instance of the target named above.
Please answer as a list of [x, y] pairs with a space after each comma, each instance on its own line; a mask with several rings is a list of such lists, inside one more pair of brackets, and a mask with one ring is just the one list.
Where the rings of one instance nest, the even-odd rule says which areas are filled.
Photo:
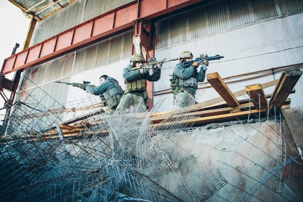
[[[279, 132], [280, 124], [275, 121], [234, 124], [216, 124], [215, 127], [208, 125], [181, 131], [183, 139], [178, 142], [181, 142], [180, 146], [183, 149], [191, 149], [191, 154], [197, 158], [197, 163], [191, 161], [180, 163], [175, 173], [170, 173], [164, 178], [162, 185], [174, 192], [175, 189], [180, 188], [180, 184], [176, 183], [176, 176], [187, 184], [193, 183], [194, 173], [199, 169], [206, 172], [206, 166], [212, 163], [227, 181], [227, 184], [216, 194], [229, 201], [238, 200], [243, 194], [240, 189], [245, 190], [248, 186], [255, 185], [256, 180], [260, 181], [268, 174], [266, 170], [269, 171], [277, 166], [279, 140], [283, 132]], [[208, 183], [207, 178], [211, 179], [212, 176], [206, 174], [204, 183]], [[292, 182], [288, 174], [285, 174], [284, 180], [287, 183]], [[276, 188], [276, 178], [271, 177], [264, 184], [272, 190], [260, 185], [260, 189], [254, 195], [265, 201], [274, 201], [273, 190]], [[201, 192], [209, 191], [201, 184], [198, 186], [201, 186]], [[186, 201], [186, 193], [176, 194]], [[283, 194], [287, 195], [286, 189]], [[223, 201], [218, 196], [215, 196], [215, 201]]]

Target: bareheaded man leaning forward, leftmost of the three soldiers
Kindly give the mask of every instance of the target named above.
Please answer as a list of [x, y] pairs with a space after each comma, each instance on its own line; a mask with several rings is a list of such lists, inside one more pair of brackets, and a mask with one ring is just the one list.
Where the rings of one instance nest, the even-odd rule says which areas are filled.
[[100, 85], [97, 87], [84, 85], [82, 89], [91, 94], [99, 95], [104, 106], [107, 107], [105, 111], [114, 112], [120, 103], [123, 89], [116, 79], [109, 77], [108, 75], [100, 76], [99, 82]]

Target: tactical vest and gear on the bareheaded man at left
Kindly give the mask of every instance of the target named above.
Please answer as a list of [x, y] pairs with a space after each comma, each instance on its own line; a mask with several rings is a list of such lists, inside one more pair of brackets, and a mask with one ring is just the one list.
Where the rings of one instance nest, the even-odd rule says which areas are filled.
[[119, 85], [118, 81], [112, 79], [109, 81], [115, 84], [115, 88], [104, 91], [102, 94], [107, 101], [107, 105], [112, 109], [116, 109], [123, 95], [123, 89]]

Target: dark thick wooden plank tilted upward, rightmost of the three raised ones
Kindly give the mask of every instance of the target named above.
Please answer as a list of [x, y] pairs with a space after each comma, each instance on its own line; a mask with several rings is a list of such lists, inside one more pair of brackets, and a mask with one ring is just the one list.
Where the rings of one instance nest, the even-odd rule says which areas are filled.
[[270, 99], [269, 111], [272, 112], [274, 109], [280, 109], [284, 104], [286, 98], [290, 94], [292, 88], [295, 86], [302, 71], [299, 69], [286, 70], [280, 77], [278, 84], [275, 87], [273, 96]]

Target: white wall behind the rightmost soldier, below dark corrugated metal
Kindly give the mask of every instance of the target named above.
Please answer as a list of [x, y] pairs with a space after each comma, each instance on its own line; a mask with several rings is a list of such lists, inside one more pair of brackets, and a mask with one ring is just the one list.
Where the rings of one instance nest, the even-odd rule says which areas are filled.
[[[209, 56], [220, 54], [224, 56], [220, 62], [211, 62], [207, 74], [218, 72], [222, 78], [237, 74], [270, 69], [303, 62], [303, 13], [264, 21], [261, 23], [242, 26], [235, 30], [225, 31], [216, 35], [209, 35], [167, 48], [156, 50], [157, 59], [176, 58], [183, 50], [191, 51], [194, 57], [207, 52]], [[180, 33], [182, 34], [182, 33]], [[163, 66], [160, 81], [155, 87], [168, 86], [176, 62]], [[280, 74], [275, 74], [278, 79]], [[242, 79], [245, 77], [237, 78]], [[228, 84], [231, 91], [245, 88], [245, 85], [265, 83], [274, 80], [272, 75], [258, 79]], [[291, 107], [301, 106], [303, 103], [303, 78], [295, 86], [296, 93], [290, 95]], [[265, 89], [271, 93], [272, 88]], [[218, 93], [209, 88], [198, 98], [198, 102], [218, 97]], [[169, 111], [173, 107], [173, 95], [155, 96], [155, 103], [168, 97], [160, 111]], [[243, 97], [242, 97], [243, 98]]]

